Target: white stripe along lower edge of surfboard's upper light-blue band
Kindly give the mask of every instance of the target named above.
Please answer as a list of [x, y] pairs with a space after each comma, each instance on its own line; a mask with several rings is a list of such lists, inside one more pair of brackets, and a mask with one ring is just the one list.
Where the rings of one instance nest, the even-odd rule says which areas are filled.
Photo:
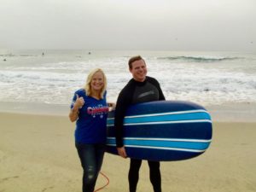
[[[143, 123], [125, 123], [124, 125], [159, 125], [159, 124], [179, 124], [179, 123], [212, 123], [212, 120], [208, 119], [196, 119], [196, 120], [175, 120], [175, 121], [155, 121], [155, 122], [143, 122]], [[108, 124], [107, 126], [113, 126]]]

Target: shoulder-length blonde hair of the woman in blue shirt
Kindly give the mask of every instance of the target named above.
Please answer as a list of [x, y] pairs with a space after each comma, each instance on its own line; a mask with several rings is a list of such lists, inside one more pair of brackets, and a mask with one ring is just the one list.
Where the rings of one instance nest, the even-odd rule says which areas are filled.
[[92, 81], [92, 77], [95, 75], [95, 73], [98, 73], [98, 72], [101, 72], [103, 75], [103, 84], [104, 85], [103, 85], [101, 93], [100, 93], [100, 97], [101, 97], [101, 99], [103, 99], [104, 93], [107, 89], [107, 78], [101, 68], [95, 68], [92, 71], [90, 71], [90, 73], [88, 74], [87, 79], [86, 79], [86, 84], [84, 85], [84, 90], [86, 91], [86, 96], [91, 96], [92, 90], [91, 90], [90, 82]]

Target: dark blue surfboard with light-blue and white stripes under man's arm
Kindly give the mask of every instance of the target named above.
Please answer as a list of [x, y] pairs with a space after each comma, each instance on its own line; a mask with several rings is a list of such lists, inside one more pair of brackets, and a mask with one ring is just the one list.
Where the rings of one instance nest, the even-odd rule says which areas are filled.
[[[114, 111], [108, 113], [107, 152], [118, 154]], [[127, 109], [124, 145], [128, 157], [140, 160], [188, 160], [203, 154], [212, 142], [212, 119], [194, 102], [143, 102]]]

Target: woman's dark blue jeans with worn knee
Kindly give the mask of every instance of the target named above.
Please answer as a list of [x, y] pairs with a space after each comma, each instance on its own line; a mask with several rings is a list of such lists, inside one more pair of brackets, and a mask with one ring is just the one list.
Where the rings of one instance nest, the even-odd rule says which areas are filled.
[[76, 148], [84, 170], [83, 192], [93, 192], [102, 167], [105, 145], [76, 143]]

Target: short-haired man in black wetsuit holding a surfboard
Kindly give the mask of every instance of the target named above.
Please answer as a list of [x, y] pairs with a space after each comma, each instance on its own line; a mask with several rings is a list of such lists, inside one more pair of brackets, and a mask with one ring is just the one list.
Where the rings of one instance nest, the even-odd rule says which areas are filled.
[[[147, 75], [147, 66], [140, 55], [131, 57], [128, 62], [132, 79], [125, 85], [119, 93], [115, 108], [115, 131], [117, 150], [120, 156], [126, 158], [125, 147], [123, 143], [123, 120], [126, 109], [139, 102], [153, 102], [165, 100], [165, 96], [160, 89], [159, 82]], [[131, 159], [129, 170], [129, 189], [130, 192], [136, 192], [139, 178], [139, 169], [142, 160]], [[148, 160], [150, 181], [153, 184], [154, 192], [161, 192], [160, 162]]]

